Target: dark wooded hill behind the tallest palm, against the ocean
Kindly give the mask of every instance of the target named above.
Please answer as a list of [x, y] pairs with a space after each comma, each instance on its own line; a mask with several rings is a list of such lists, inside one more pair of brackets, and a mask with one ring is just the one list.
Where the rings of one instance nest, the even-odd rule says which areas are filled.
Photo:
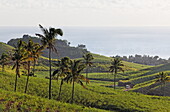
[[[24, 35], [23, 38], [11, 39], [7, 44], [11, 46], [15, 46], [18, 40], [28, 42], [29, 39], [32, 39], [35, 43], [41, 44], [41, 40], [39, 38], [30, 37], [29, 35]], [[61, 58], [65, 56], [68, 56], [72, 59], [81, 58], [84, 53], [88, 52], [87, 49], [85, 48], [81, 49], [80, 47], [70, 46], [70, 42], [68, 42], [67, 40], [56, 39], [54, 44], [58, 50], [58, 53], [53, 53], [52, 58]], [[42, 55], [48, 57], [48, 49], [45, 49]]]

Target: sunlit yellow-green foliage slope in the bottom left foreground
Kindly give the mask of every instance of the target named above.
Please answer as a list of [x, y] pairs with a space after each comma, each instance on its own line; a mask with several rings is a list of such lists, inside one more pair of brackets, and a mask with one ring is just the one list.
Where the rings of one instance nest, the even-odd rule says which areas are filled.
[[10, 112], [107, 112], [105, 110], [87, 108], [75, 104], [47, 100], [45, 98], [21, 93], [12, 93], [0, 89], [0, 111]]

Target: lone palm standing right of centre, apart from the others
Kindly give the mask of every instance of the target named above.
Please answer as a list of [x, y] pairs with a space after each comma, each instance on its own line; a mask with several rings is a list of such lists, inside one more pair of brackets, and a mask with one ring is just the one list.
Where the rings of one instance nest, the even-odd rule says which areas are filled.
[[120, 58], [114, 58], [114, 60], [111, 62], [111, 66], [109, 67], [109, 71], [112, 72], [112, 75], [114, 76], [114, 89], [116, 89], [116, 75], [118, 71], [124, 72], [122, 66], [122, 60]]

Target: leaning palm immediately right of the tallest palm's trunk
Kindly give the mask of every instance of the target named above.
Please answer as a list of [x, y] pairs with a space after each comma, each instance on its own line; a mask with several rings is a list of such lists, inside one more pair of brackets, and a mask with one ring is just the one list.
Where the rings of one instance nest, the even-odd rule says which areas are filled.
[[64, 83], [64, 78], [66, 78], [66, 76], [69, 73], [69, 64], [70, 64], [70, 58], [68, 57], [62, 58], [61, 61], [58, 61], [58, 63], [55, 64], [58, 67], [58, 69], [53, 72], [53, 76], [57, 75], [56, 76], [57, 81], [59, 78], [61, 78], [61, 83], [60, 83], [60, 88], [59, 88], [59, 93], [57, 98], [58, 100], [60, 100], [61, 89]]

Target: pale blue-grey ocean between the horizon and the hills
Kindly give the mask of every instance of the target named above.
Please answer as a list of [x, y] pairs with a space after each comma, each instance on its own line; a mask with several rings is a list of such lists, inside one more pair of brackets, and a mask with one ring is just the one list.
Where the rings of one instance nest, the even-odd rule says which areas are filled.
[[[55, 27], [57, 28], [57, 27]], [[105, 56], [151, 55], [170, 57], [170, 27], [60, 27], [71, 46], [85, 44], [86, 48]], [[39, 27], [0, 27], [0, 41], [35, 36]]]

